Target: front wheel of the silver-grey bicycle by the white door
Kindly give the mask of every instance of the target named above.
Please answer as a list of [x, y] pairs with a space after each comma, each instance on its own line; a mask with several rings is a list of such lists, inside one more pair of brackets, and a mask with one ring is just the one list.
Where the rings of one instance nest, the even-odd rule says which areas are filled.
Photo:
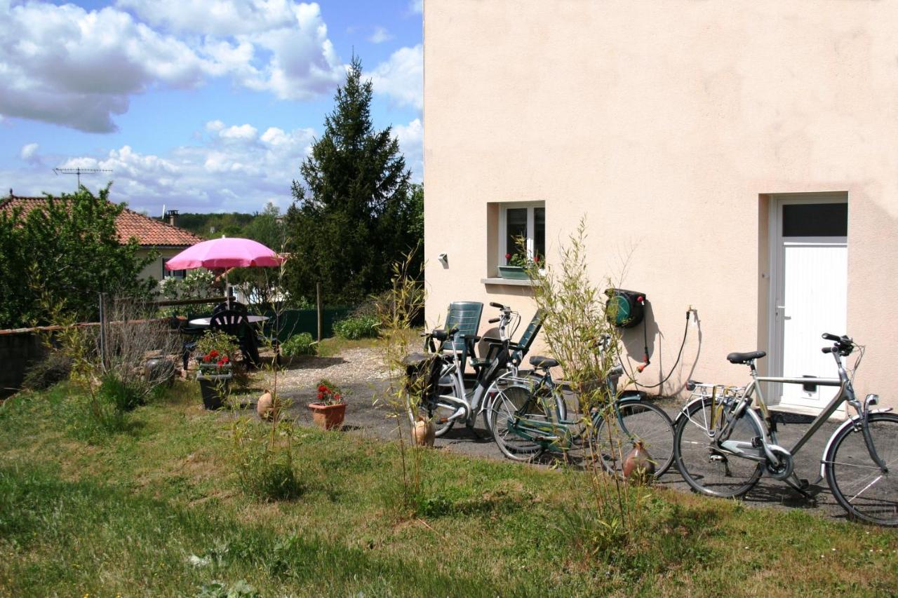
[[888, 470], [873, 462], [864, 434], [850, 426], [837, 435], [824, 457], [826, 481], [832, 496], [858, 519], [879, 525], [898, 525], [898, 415], [872, 413], [870, 438]]

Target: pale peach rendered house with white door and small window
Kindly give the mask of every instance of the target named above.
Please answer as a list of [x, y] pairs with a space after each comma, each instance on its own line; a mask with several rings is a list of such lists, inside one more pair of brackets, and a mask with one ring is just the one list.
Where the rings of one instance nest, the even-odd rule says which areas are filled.
[[[867, 347], [858, 396], [898, 407], [898, 3], [427, 0], [424, 25], [428, 321], [453, 300], [526, 321], [509, 238], [552, 262], [585, 215], [592, 279], [626, 265], [647, 294], [639, 382], [697, 311], [652, 392], [744, 383], [726, 355], [754, 349], [762, 374], [834, 377], [833, 332]], [[782, 410], [832, 396], [781, 386]]]

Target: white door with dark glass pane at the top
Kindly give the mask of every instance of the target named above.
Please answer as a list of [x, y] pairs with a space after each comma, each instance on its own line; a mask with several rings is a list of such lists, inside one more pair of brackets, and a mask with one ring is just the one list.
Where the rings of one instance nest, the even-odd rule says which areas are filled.
[[[776, 205], [774, 375], [837, 376], [823, 332], [847, 334], [848, 204], [837, 196], [779, 197]], [[784, 407], [822, 409], [832, 386], [778, 385]]]

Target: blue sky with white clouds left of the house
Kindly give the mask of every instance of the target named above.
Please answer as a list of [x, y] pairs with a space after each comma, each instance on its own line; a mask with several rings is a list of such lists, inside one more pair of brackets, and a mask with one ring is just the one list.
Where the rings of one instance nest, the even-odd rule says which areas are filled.
[[423, 177], [423, 0], [0, 0], [0, 197], [285, 210], [353, 52]]

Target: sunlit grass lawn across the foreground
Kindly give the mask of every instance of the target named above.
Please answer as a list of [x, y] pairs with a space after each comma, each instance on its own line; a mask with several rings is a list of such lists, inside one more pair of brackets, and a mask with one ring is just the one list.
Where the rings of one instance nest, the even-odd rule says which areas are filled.
[[66, 385], [0, 407], [0, 595], [887, 595], [898, 535], [646, 489], [647, 532], [593, 552], [583, 476], [425, 451], [401, 506], [394, 444], [303, 429], [305, 491], [246, 497], [195, 384], [111, 435]]

